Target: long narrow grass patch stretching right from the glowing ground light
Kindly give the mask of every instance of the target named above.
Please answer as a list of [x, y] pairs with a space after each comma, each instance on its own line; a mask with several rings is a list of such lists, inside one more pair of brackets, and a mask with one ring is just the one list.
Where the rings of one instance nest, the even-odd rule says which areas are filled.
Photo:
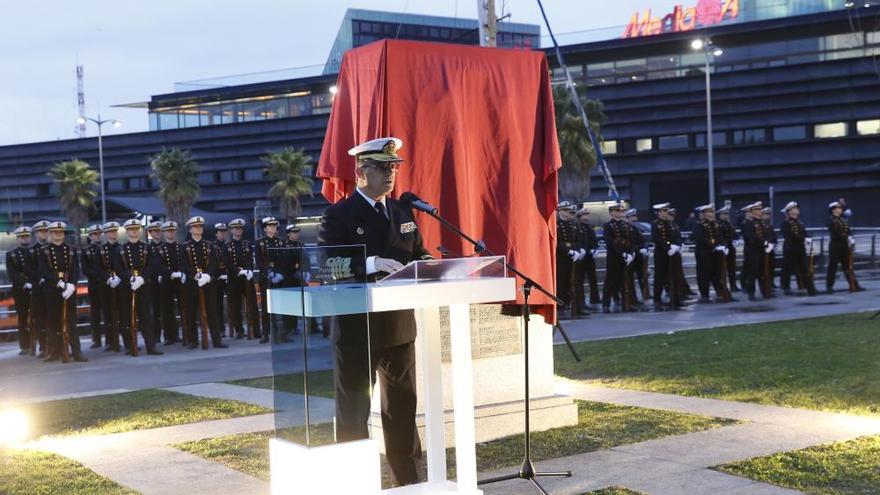
[[34, 437], [119, 433], [271, 412], [244, 402], [156, 389], [41, 402], [25, 410]]

